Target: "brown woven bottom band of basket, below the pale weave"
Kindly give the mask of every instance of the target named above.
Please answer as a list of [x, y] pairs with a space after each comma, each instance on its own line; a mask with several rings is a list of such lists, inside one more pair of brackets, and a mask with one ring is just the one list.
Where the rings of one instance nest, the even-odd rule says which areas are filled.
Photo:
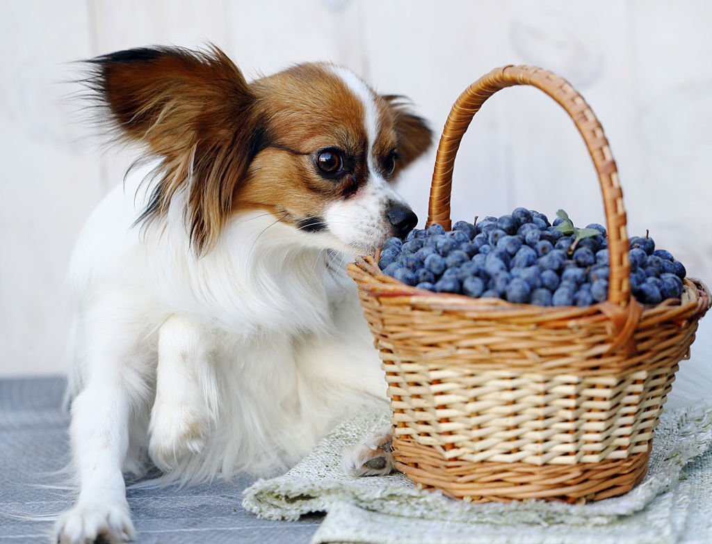
[[[587, 503], [627, 493], [645, 476], [650, 448], [627, 459], [575, 465], [448, 461], [404, 436], [394, 438], [396, 469], [423, 488], [473, 503], [526, 498]], [[652, 444], [652, 441], [651, 441]]]

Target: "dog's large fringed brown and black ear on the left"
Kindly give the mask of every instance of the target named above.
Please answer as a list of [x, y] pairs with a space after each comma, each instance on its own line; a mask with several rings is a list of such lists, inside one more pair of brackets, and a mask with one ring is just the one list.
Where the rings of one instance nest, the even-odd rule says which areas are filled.
[[263, 147], [255, 96], [219, 48], [137, 48], [88, 61], [90, 90], [119, 136], [162, 158], [139, 221], [164, 214], [187, 191], [187, 227], [198, 254], [214, 246], [235, 187]]

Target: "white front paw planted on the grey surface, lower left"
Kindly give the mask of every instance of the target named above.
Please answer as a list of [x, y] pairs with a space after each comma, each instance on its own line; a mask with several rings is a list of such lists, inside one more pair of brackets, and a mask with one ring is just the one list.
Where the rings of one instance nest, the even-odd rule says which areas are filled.
[[58, 544], [115, 544], [128, 542], [136, 536], [125, 501], [79, 503], [60, 516], [55, 532]]

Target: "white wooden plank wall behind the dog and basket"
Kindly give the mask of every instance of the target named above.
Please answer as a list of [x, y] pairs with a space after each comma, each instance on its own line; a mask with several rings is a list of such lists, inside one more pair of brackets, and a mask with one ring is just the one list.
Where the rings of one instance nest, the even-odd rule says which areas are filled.
[[[0, 0], [0, 375], [63, 369], [73, 240], [130, 157], [102, 154], [71, 61], [147, 44], [224, 48], [248, 75], [331, 60], [408, 95], [438, 132], [466, 85], [529, 63], [568, 78], [617, 159], [629, 231], [651, 231], [712, 280], [712, 3], [708, 0]], [[434, 150], [399, 190], [424, 221]], [[455, 219], [529, 206], [603, 222], [580, 137], [552, 100], [515, 88], [466, 135]]]

